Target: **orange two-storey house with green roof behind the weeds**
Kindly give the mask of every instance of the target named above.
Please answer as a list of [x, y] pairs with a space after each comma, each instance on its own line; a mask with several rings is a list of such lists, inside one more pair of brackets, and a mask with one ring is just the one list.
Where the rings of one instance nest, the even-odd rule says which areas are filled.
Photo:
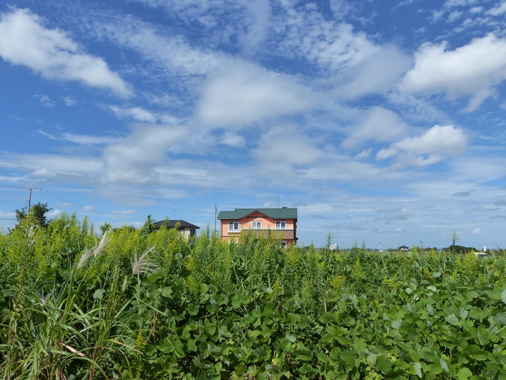
[[282, 234], [284, 246], [297, 243], [296, 208], [236, 208], [235, 211], [221, 211], [221, 237], [231, 238], [241, 230], [255, 230], [266, 234], [274, 230]]

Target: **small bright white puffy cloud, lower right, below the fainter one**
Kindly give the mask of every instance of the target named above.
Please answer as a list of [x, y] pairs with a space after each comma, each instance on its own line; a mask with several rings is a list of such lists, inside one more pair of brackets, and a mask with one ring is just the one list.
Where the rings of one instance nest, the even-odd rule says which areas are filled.
[[461, 129], [452, 125], [435, 125], [419, 137], [395, 142], [376, 154], [377, 160], [397, 156], [399, 163], [410, 166], [427, 166], [444, 160], [447, 155], [459, 154], [466, 149], [467, 141]]

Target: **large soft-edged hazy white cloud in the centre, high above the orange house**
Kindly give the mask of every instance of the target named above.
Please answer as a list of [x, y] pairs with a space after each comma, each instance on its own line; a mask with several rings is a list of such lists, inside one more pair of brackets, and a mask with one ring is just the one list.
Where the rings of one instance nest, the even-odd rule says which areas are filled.
[[302, 112], [313, 103], [310, 91], [290, 78], [241, 64], [205, 84], [197, 120], [205, 126], [238, 127]]

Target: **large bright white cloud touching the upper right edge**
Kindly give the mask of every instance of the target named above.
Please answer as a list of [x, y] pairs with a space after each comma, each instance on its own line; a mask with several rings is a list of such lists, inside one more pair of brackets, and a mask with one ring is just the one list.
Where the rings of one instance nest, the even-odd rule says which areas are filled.
[[490, 33], [455, 50], [447, 50], [447, 45], [422, 45], [399, 88], [408, 93], [445, 92], [450, 99], [470, 96], [467, 110], [475, 110], [506, 79], [506, 39]]

